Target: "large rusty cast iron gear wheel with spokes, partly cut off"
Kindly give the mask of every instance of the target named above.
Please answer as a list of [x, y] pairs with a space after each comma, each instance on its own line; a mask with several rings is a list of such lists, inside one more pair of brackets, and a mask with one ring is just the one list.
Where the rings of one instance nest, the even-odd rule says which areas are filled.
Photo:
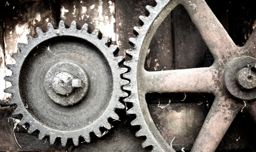
[[[216, 19], [205, 0], [155, 0], [156, 6], [146, 6], [148, 16], [140, 16], [141, 27], [134, 27], [136, 38], [130, 38], [133, 49], [126, 50], [132, 56], [124, 65], [131, 71], [123, 76], [130, 84], [123, 89], [131, 91], [125, 102], [132, 102], [127, 111], [135, 114], [132, 125], [141, 129], [136, 136], [146, 136], [142, 146], [152, 146], [154, 152], [175, 152], [157, 130], [145, 101], [145, 94], [152, 92], [207, 92], [215, 95], [215, 101], [195, 140], [191, 152], [214, 152], [236, 114], [246, 101], [255, 116], [256, 30], [243, 47], [237, 47], [221, 23]], [[214, 56], [208, 68], [171, 71], [145, 71], [144, 61], [150, 41], [164, 18], [177, 6], [183, 5], [206, 45]], [[251, 89], [253, 88], [253, 89]], [[253, 117], [255, 118], [255, 117]]]

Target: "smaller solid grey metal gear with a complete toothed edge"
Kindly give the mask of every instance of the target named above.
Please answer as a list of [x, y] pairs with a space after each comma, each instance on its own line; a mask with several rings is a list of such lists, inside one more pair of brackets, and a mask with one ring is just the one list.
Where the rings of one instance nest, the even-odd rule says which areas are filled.
[[117, 46], [75, 21], [36, 31], [36, 38], [27, 35], [28, 44], [18, 43], [20, 53], [12, 54], [16, 64], [6, 66], [12, 71], [5, 77], [12, 84], [5, 90], [13, 95], [8, 103], [17, 105], [13, 115], [21, 114], [28, 133], [38, 130], [38, 138], [49, 136], [51, 144], [58, 137], [62, 146], [68, 139], [78, 145], [79, 137], [90, 142], [91, 132], [101, 137], [101, 127], [113, 127], [108, 119], [119, 119], [114, 110], [124, 108], [120, 97], [128, 96], [121, 90], [128, 84], [121, 79], [127, 69], [119, 67], [123, 57], [114, 56]]

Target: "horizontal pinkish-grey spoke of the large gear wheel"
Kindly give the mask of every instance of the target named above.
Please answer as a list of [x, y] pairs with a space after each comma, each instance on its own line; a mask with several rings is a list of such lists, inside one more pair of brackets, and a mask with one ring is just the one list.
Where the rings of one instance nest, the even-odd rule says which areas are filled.
[[196, 68], [170, 71], [144, 71], [139, 83], [147, 92], [209, 92], [215, 91], [214, 70]]

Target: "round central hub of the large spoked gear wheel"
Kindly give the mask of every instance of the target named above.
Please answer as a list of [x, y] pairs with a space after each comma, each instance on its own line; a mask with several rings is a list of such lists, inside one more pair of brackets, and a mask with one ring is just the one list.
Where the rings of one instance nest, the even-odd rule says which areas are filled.
[[231, 61], [224, 71], [226, 89], [243, 101], [256, 99], [256, 63], [253, 57], [239, 57]]

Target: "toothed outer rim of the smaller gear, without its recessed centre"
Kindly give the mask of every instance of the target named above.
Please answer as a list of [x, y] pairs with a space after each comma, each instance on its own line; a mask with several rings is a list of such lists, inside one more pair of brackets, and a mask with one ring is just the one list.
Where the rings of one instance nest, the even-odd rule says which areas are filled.
[[[79, 137], [83, 137], [86, 142], [90, 142], [91, 132], [93, 132], [96, 136], [101, 137], [102, 132], [99, 130], [100, 127], [104, 127], [108, 130], [112, 128], [111, 124], [108, 122], [108, 119], [119, 119], [119, 116], [114, 112], [114, 110], [116, 108], [123, 109], [124, 105], [119, 102], [119, 99], [120, 97], [128, 96], [126, 92], [123, 92], [121, 90], [121, 87], [128, 84], [128, 81], [123, 80], [120, 76], [121, 74], [126, 72], [127, 69], [119, 67], [118, 64], [123, 61], [123, 57], [114, 56], [114, 52], [117, 51], [117, 47], [110, 47], [111, 40], [108, 37], [102, 38], [102, 34], [98, 29], [94, 30], [91, 33], [90, 27], [88, 27], [87, 24], [84, 24], [82, 28], [80, 28], [75, 21], [72, 21], [71, 26], [69, 28], [67, 27], [68, 26], [65, 25], [63, 21], [60, 21], [58, 29], [54, 29], [52, 24], [48, 23], [46, 32], [42, 31], [40, 28], [36, 29], [36, 32], [38, 34], [36, 38], [27, 35], [27, 45], [18, 43], [18, 47], [20, 48], [20, 54], [11, 54], [14, 60], [16, 60], [16, 64], [6, 65], [6, 67], [12, 71], [12, 75], [5, 77], [6, 81], [10, 81], [12, 83], [12, 86], [10, 88], [5, 89], [5, 92], [12, 93], [13, 95], [12, 99], [8, 101], [8, 104], [16, 104], [17, 106], [12, 114], [22, 115], [22, 119], [20, 120], [19, 124], [23, 125], [28, 123], [30, 125], [28, 133], [39, 130], [40, 133], [38, 138], [40, 140], [42, 140], [45, 136], [49, 136], [51, 144], [55, 142], [56, 138], [60, 137], [62, 146], [66, 145], [68, 139], [72, 139], [74, 145], [78, 145]], [[43, 41], [47, 41], [51, 38], [59, 36], [72, 36], [76, 38], [81, 38], [85, 41], [91, 42], [95, 47], [101, 48], [100, 50], [103, 50], [102, 53], [109, 61], [109, 64], [111, 66], [111, 73], [114, 77], [113, 93], [106, 110], [102, 112], [102, 115], [97, 120], [90, 123], [90, 125], [72, 132], [52, 129], [38, 122], [38, 120], [33, 118], [33, 116], [26, 110], [25, 105], [21, 101], [19, 93], [20, 69], [26, 57], [35, 47], [37, 47], [38, 44], [41, 44]]]

